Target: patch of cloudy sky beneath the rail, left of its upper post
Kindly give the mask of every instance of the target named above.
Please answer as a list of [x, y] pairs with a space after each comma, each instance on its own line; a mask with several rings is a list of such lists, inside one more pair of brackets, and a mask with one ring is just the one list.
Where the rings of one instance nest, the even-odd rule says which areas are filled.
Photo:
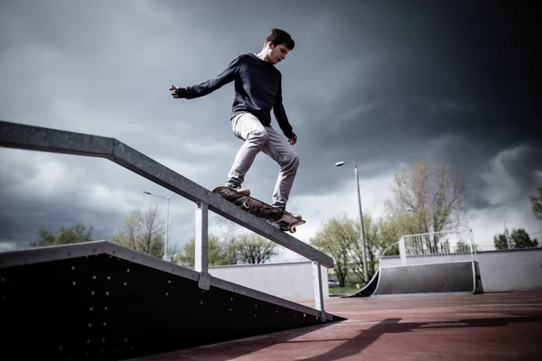
[[[135, 208], [145, 211], [158, 206], [161, 217], [165, 217], [162, 199], [146, 196], [143, 191], [158, 195], [171, 192], [165, 193], [114, 162], [20, 150], [3, 153], [0, 162], [9, 170], [0, 172], [2, 242], [26, 246], [41, 227], [56, 232], [74, 223], [92, 226], [94, 238], [108, 240]], [[180, 232], [182, 241], [188, 240], [183, 233], [193, 225], [179, 224], [175, 218], [193, 218], [190, 206], [185, 199], [173, 199], [170, 232]]]

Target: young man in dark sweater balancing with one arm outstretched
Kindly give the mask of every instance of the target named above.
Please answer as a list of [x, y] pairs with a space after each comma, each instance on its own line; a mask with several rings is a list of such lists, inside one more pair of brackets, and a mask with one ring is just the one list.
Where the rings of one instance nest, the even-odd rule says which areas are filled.
[[[244, 143], [228, 173], [226, 185], [241, 190], [248, 169], [257, 153], [263, 152], [280, 166], [272, 206], [285, 210], [294, 184], [299, 158], [290, 145], [297, 142], [282, 103], [282, 74], [276, 64], [294, 49], [288, 32], [273, 29], [266, 36], [259, 53], [244, 53], [232, 60], [219, 75], [198, 85], [178, 88], [172, 85], [172, 97], [193, 99], [206, 96], [235, 81], [235, 97], [231, 111], [233, 134]], [[271, 109], [286, 139], [271, 126]], [[298, 216], [298, 215], [296, 215]]]

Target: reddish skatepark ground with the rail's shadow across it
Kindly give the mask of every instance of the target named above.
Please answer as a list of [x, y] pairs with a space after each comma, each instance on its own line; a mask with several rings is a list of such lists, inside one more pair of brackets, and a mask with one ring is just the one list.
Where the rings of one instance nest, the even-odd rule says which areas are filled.
[[330, 298], [324, 307], [347, 320], [134, 361], [542, 360], [542, 291]]

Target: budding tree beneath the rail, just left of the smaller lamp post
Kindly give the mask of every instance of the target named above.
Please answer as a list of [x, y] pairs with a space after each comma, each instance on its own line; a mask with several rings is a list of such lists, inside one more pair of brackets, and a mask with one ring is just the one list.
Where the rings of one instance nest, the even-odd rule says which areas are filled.
[[159, 217], [158, 208], [148, 208], [146, 212], [136, 209], [126, 217], [117, 235], [111, 236], [111, 243], [162, 258], [164, 231], [164, 220]]

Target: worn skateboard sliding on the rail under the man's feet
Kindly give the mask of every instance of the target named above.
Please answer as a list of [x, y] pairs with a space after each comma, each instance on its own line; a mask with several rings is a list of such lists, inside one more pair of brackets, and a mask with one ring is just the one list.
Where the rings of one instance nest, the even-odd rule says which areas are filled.
[[227, 186], [216, 187], [212, 192], [219, 194], [241, 209], [248, 211], [248, 213], [252, 213], [257, 218], [265, 220], [267, 223], [282, 231], [295, 233], [297, 230], [296, 227], [306, 223], [303, 219], [295, 218], [289, 212], [277, 210], [266, 202], [250, 197], [247, 194], [243, 194], [242, 192], [238, 192]]

